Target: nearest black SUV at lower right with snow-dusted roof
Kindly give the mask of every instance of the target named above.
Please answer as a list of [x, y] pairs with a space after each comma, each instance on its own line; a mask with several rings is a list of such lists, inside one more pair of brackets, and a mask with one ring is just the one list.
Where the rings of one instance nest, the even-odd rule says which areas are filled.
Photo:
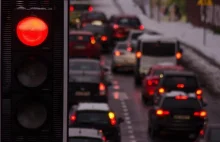
[[148, 112], [148, 133], [151, 138], [167, 134], [184, 134], [196, 140], [207, 123], [207, 112], [195, 93], [167, 92]]

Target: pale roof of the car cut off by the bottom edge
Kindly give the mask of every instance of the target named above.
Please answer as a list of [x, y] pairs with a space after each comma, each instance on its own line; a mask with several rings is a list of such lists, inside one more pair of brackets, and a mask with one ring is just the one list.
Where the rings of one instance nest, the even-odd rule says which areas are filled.
[[69, 128], [69, 137], [102, 138], [102, 133], [91, 128]]

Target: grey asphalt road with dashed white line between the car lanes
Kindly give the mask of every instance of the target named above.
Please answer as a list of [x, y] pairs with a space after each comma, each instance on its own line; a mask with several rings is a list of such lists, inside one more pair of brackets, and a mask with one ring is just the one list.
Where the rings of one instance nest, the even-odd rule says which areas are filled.
[[[106, 65], [111, 64], [110, 55], [102, 57]], [[211, 97], [205, 91], [205, 99], [208, 102], [206, 108], [209, 123], [220, 122], [219, 98]], [[118, 116], [125, 119], [121, 125], [122, 142], [152, 142], [147, 134], [147, 112], [150, 106], [142, 103], [140, 88], [135, 87], [132, 73], [121, 72], [113, 75], [113, 85], [109, 89], [109, 104]], [[162, 140], [158, 140], [162, 142]], [[163, 142], [165, 142], [163, 140]], [[180, 142], [177, 140], [175, 142]]]

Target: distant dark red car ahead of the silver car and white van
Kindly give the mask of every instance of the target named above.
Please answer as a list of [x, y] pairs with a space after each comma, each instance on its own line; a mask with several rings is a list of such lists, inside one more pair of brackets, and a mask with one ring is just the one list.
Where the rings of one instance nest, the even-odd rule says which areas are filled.
[[112, 15], [109, 23], [113, 29], [112, 36], [115, 41], [125, 40], [130, 30], [144, 30], [144, 26], [135, 15]]

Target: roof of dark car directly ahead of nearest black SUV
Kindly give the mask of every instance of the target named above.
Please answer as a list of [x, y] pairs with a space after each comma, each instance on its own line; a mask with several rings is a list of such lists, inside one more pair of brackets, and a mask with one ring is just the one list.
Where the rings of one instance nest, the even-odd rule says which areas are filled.
[[195, 73], [191, 71], [177, 71], [177, 70], [165, 70], [163, 71], [164, 76], [172, 76], [172, 75], [177, 75], [177, 76], [195, 76]]

